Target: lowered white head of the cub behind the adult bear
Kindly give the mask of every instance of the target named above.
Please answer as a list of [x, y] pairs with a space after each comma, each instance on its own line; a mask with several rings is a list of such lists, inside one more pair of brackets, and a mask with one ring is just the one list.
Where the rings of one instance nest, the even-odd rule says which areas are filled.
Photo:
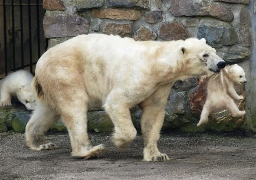
[[33, 93], [32, 87], [28, 86], [20, 86], [17, 90], [17, 98], [18, 100], [26, 106], [28, 110], [34, 110], [36, 107], [36, 98]]

